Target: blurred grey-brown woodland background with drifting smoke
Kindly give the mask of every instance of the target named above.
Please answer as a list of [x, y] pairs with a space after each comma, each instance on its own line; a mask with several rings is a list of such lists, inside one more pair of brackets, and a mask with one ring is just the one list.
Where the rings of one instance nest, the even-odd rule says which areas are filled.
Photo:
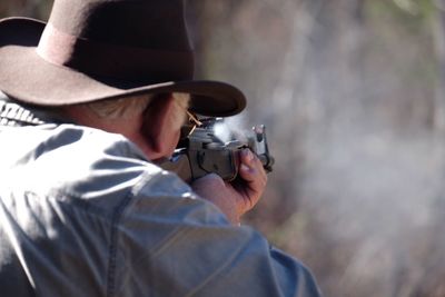
[[[52, 1], [1, 0], [47, 19]], [[197, 77], [245, 91], [275, 170], [246, 224], [326, 296], [445, 296], [445, 0], [189, 0]]]

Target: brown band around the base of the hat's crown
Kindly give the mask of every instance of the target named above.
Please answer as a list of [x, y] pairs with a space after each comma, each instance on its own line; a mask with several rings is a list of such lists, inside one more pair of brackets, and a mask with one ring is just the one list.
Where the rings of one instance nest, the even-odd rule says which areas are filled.
[[106, 78], [156, 83], [190, 80], [192, 51], [121, 47], [80, 39], [48, 23], [37, 48], [46, 61]]

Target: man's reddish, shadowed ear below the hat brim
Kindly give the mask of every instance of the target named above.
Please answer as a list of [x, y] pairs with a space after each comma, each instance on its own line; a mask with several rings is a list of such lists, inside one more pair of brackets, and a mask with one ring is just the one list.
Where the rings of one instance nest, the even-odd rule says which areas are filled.
[[144, 115], [141, 133], [147, 138], [154, 154], [164, 155], [171, 146], [171, 115], [175, 99], [171, 95], [155, 98]]

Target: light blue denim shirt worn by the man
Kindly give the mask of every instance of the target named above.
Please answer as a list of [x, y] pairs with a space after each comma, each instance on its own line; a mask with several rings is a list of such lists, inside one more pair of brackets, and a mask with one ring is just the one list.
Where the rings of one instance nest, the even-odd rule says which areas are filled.
[[319, 296], [299, 261], [121, 136], [3, 127], [0, 180], [1, 296]]

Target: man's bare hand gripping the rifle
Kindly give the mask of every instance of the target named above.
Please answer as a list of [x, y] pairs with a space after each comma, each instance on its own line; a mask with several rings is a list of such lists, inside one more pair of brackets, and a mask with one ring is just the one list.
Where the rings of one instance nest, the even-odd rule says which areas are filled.
[[239, 155], [239, 178], [235, 181], [226, 182], [211, 174], [191, 184], [196, 194], [218, 206], [234, 225], [239, 225], [240, 217], [255, 207], [267, 184], [260, 160], [249, 149]]

